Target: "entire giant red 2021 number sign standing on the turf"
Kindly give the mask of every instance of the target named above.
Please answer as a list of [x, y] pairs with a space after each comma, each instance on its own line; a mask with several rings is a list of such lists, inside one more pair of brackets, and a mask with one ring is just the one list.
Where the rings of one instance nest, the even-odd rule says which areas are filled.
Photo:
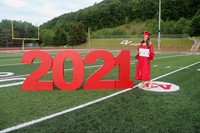
[[[45, 51], [29, 51], [21, 59], [21, 63], [32, 64], [34, 59], [40, 59], [40, 66], [32, 72], [24, 81], [22, 90], [53, 90], [54, 84], [61, 90], [77, 90], [84, 81], [84, 64], [94, 64], [96, 59], [102, 58], [104, 64], [91, 74], [85, 81], [84, 89], [115, 89], [133, 87], [130, 79], [130, 51], [122, 50], [116, 57], [106, 50], [93, 50], [83, 59], [73, 50], [61, 51], [52, 59]], [[72, 81], [67, 82], [64, 78], [64, 62], [69, 58], [72, 61]], [[118, 79], [103, 80], [114, 67], [118, 67]], [[41, 81], [40, 78], [52, 69], [53, 80]]]

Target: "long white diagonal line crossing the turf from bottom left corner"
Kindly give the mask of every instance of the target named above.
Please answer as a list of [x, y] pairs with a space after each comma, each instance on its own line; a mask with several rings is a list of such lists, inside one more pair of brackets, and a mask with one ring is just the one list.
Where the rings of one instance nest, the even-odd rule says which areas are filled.
[[[173, 74], [173, 73], [176, 73], [176, 72], [181, 71], [181, 70], [183, 70], [183, 69], [185, 69], [185, 68], [187, 68], [187, 67], [191, 67], [191, 66], [194, 66], [194, 65], [199, 64], [199, 63], [200, 63], [200, 61], [198, 61], [198, 62], [196, 62], [196, 63], [193, 63], [193, 64], [190, 64], [190, 65], [188, 65], [188, 66], [185, 66], [185, 67], [183, 67], [183, 68], [177, 69], [177, 70], [175, 70], [175, 71], [169, 72], [169, 73], [167, 73], [167, 74], [161, 75], [161, 76], [159, 76], [159, 77], [157, 77], [157, 78], [152, 79], [152, 81], [157, 80], [157, 79], [160, 79], [160, 78], [163, 78], [163, 77], [166, 77], [166, 76], [168, 76], [168, 75], [171, 75], [171, 74]], [[20, 128], [24, 128], [24, 127], [27, 127], [27, 126], [30, 126], [30, 125], [33, 125], [33, 124], [36, 124], [36, 123], [39, 123], [39, 122], [42, 122], [42, 121], [45, 121], [45, 120], [48, 120], [48, 119], [51, 119], [51, 118], [54, 118], [54, 117], [63, 115], [63, 114], [66, 114], [66, 113], [69, 113], [69, 112], [72, 112], [72, 111], [75, 111], [75, 110], [78, 110], [78, 109], [87, 107], [87, 106], [89, 106], [89, 105], [92, 105], [92, 104], [95, 104], [95, 103], [99, 103], [99, 102], [101, 102], [101, 101], [103, 101], [103, 100], [106, 100], [106, 99], [108, 99], [108, 98], [111, 98], [111, 97], [117, 96], [117, 95], [119, 95], [119, 94], [122, 94], [122, 93], [124, 93], [124, 92], [130, 91], [130, 90], [132, 90], [132, 89], [134, 89], [134, 88], [136, 88], [136, 87], [138, 87], [138, 85], [133, 86], [133, 88], [127, 88], [127, 89], [125, 89], [125, 90], [118, 91], [118, 92], [113, 93], [113, 94], [111, 94], [111, 95], [108, 95], [108, 96], [105, 96], [105, 97], [96, 99], [96, 100], [94, 100], [94, 101], [91, 101], [91, 102], [88, 102], [88, 103], [85, 103], [85, 104], [81, 104], [81, 105], [79, 105], [79, 106], [76, 106], [76, 107], [73, 107], [73, 108], [70, 108], [70, 109], [66, 109], [66, 110], [61, 111], [61, 112], [57, 112], [57, 113], [54, 113], [54, 114], [51, 114], [51, 115], [48, 115], [48, 116], [41, 117], [41, 118], [39, 118], [39, 119], [35, 119], [35, 120], [29, 121], [29, 122], [25, 122], [25, 123], [19, 124], [19, 125], [17, 125], [17, 126], [13, 126], [13, 127], [9, 127], [9, 128], [3, 129], [3, 130], [0, 131], [0, 133], [6, 133], [6, 132], [14, 131], [14, 130], [17, 130], [17, 129], [20, 129]]]

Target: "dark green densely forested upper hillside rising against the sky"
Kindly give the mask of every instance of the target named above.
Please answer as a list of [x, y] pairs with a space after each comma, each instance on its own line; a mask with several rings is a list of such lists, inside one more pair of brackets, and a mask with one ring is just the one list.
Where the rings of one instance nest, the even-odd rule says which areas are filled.
[[[155, 0], [104, 0], [77, 12], [58, 16], [41, 27], [52, 29], [59, 25], [82, 22], [85, 29], [93, 30], [116, 27], [134, 20], [158, 18]], [[162, 0], [162, 20], [177, 21], [181, 17], [191, 19], [200, 8], [199, 0]]]

